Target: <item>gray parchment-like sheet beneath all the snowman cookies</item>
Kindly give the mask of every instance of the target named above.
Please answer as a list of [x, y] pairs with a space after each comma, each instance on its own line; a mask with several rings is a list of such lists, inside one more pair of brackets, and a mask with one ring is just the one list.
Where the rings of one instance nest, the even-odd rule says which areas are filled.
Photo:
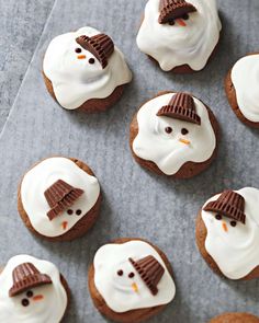
[[[195, 216], [205, 199], [226, 187], [259, 187], [259, 132], [236, 119], [223, 90], [232, 64], [247, 51], [258, 50], [259, 2], [218, 1], [224, 27], [218, 51], [204, 71], [192, 76], [162, 73], [138, 51], [135, 36], [145, 2], [56, 1], [0, 137], [1, 261], [18, 253], [53, 261], [72, 290], [66, 322], [104, 322], [89, 297], [88, 266], [103, 243], [117, 237], [142, 237], [167, 253], [178, 288], [174, 301], [151, 322], [203, 323], [224, 311], [259, 314], [259, 281], [235, 282], [217, 277], [194, 243]], [[101, 115], [61, 109], [46, 92], [41, 76], [42, 58], [52, 37], [86, 24], [110, 34], [135, 73], [121, 102]], [[216, 161], [202, 175], [182, 182], [145, 172], [133, 161], [128, 148], [128, 124], [137, 106], [159, 90], [170, 89], [201, 97], [222, 126]], [[32, 163], [52, 154], [88, 162], [103, 189], [98, 223], [89, 234], [71, 243], [34, 238], [16, 212], [20, 177]]]

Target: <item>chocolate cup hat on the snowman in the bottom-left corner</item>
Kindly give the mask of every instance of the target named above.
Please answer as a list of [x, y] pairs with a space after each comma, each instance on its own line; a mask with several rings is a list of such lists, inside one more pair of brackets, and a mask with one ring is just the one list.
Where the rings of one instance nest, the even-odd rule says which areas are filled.
[[9, 290], [9, 296], [16, 296], [24, 290], [42, 285], [52, 284], [48, 275], [41, 274], [32, 263], [24, 263], [16, 266], [12, 272], [13, 286]]

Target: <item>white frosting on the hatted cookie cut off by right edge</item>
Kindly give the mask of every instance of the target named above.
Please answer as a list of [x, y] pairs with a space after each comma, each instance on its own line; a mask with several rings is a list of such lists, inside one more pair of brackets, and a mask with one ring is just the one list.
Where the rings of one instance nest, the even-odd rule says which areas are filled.
[[[207, 230], [205, 249], [221, 272], [230, 279], [240, 279], [259, 266], [259, 189], [246, 187], [236, 191], [245, 198], [246, 223], [230, 226], [232, 219], [215, 219], [215, 212], [202, 210], [202, 219]], [[219, 195], [209, 199], [204, 206], [216, 200]], [[203, 207], [204, 207], [203, 206]], [[227, 231], [223, 230], [223, 221]]]

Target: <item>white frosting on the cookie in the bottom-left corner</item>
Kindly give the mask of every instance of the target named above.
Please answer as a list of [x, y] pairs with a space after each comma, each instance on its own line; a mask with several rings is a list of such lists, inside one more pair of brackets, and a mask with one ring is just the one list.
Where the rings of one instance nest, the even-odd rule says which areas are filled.
[[[32, 263], [42, 274], [47, 274], [50, 285], [30, 288], [34, 296], [43, 296], [42, 300], [26, 297], [26, 291], [15, 297], [9, 297], [9, 289], [13, 285], [12, 272], [22, 263]], [[19, 323], [58, 323], [67, 308], [67, 292], [60, 281], [57, 267], [46, 261], [40, 261], [29, 255], [12, 257], [0, 274], [0, 322]], [[30, 304], [23, 307], [22, 299], [27, 299]]]

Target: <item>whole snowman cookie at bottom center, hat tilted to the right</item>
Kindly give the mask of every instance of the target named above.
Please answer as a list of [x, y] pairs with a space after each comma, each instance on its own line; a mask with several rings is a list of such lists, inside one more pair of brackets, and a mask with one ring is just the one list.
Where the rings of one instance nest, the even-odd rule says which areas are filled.
[[167, 256], [140, 239], [119, 239], [100, 247], [89, 269], [97, 309], [116, 322], [142, 322], [171, 302], [176, 286]]

